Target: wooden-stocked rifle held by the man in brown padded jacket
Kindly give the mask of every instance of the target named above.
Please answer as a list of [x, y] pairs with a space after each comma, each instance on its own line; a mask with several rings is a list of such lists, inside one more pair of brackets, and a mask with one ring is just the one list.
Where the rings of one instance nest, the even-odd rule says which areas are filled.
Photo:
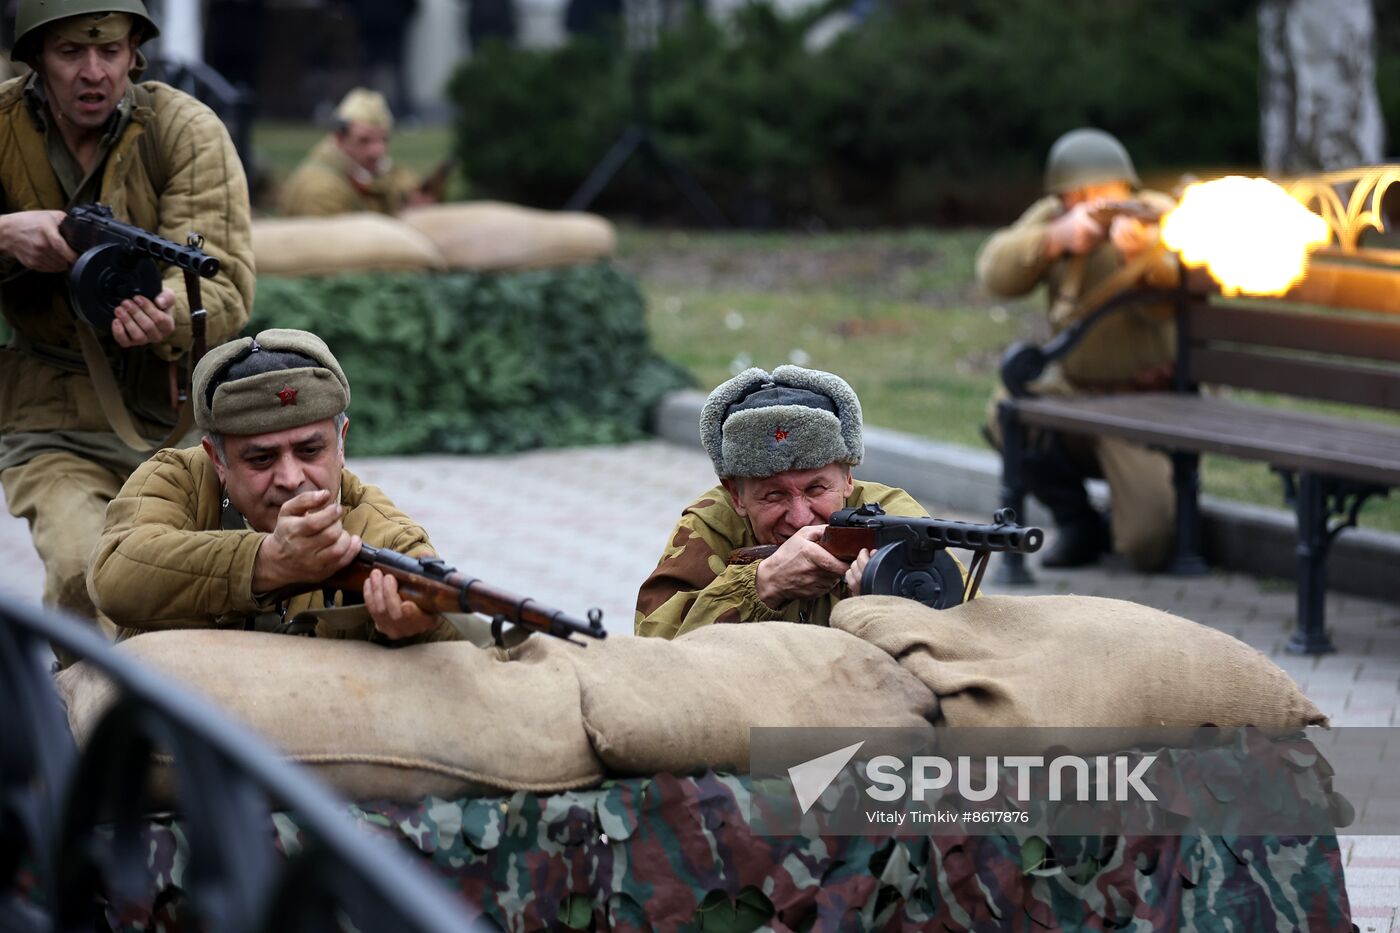
[[[528, 597], [497, 590], [476, 577], [458, 573], [441, 558], [410, 558], [398, 551], [361, 545], [356, 559], [321, 586], [326, 590], [360, 593], [374, 570], [393, 577], [399, 586], [399, 597], [424, 612], [477, 612], [490, 616], [491, 636], [497, 644], [503, 643], [505, 623], [553, 635], [578, 646], [584, 643], [571, 636], [608, 637], [602, 609], [589, 609], [588, 621], [582, 622]], [[330, 605], [330, 600], [326, 600], [326, 605]]]

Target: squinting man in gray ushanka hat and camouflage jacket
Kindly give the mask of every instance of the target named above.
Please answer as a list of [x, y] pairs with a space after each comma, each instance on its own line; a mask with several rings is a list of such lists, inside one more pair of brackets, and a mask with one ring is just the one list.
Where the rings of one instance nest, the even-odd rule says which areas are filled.
[[[876, 503], [892, 516], [928, 513], [902, 489], [858, 481], [861, 403], [830, 373], [752, 368], [706, 401], [700, 440], [720, 485], [680, 514], [657, 569], [637, 593], [637, 635], [676, 637], [713, 622], [827, 625], [858, 594], [868, 555], [847, 563], [816, 539], [837, 509]], [[725, 565], [735, 548], [778, 545], [757, 563]]]

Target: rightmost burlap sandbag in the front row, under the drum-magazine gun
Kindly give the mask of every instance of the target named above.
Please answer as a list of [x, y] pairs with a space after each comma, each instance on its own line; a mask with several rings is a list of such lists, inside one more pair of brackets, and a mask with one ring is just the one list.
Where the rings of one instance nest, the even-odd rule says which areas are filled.
[[949, 726], [1327, 721], [1288, 674], [1239, 639], [1123, 600], [1002, 595], [939, 611], [860, 597], [837, 604], [832, 625], [899, 658], [938, 695]]

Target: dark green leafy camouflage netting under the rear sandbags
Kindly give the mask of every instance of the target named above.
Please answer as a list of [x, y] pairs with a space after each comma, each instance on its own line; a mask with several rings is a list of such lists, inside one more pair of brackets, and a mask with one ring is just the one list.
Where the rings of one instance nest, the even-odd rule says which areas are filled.
[[319, 335], [350, 378], [354, 457], [638, 440], [687, 377], [608, 263], [533, 272], [263, 276], [246, 333]]

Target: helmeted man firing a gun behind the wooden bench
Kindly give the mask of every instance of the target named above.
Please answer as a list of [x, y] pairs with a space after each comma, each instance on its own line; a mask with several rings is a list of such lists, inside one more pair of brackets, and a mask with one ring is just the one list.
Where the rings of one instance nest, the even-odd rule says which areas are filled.
[[[1046, 196], [981, 247], [979, 282], [1008, 297], [1044, 283], [1056, 333], [1126, 289], [1173, 283], [1175, 269], [1155, 249], [1155, 223], [1124, 213], [1103, 220], [1106, 207], [1128, 199], [1158, 212], [1172, 207], [1166, 195], [1138, 188], [1117, 139], [1096, 129], [1065, 133], [1046, 161]], [[1140, 305], [1099, 321], [1035, 388], [1042, 395], [1165, 389], [1175, 357], [1172, 307]], [[995, 419], [988, 427], [1000, 445]], [[1113, 437], [1043, 431], [1032, 438], [1025, 475], [1060, 530], [1044, 566], [1095, 563], [1110, 544], [1135, 569], [1165, 566], [1175, 525], [1172, 464], [1165, 454]], [[1084, 486], [1089, 476], [1107, 479], [1112, 534], [1089, 503]]]

